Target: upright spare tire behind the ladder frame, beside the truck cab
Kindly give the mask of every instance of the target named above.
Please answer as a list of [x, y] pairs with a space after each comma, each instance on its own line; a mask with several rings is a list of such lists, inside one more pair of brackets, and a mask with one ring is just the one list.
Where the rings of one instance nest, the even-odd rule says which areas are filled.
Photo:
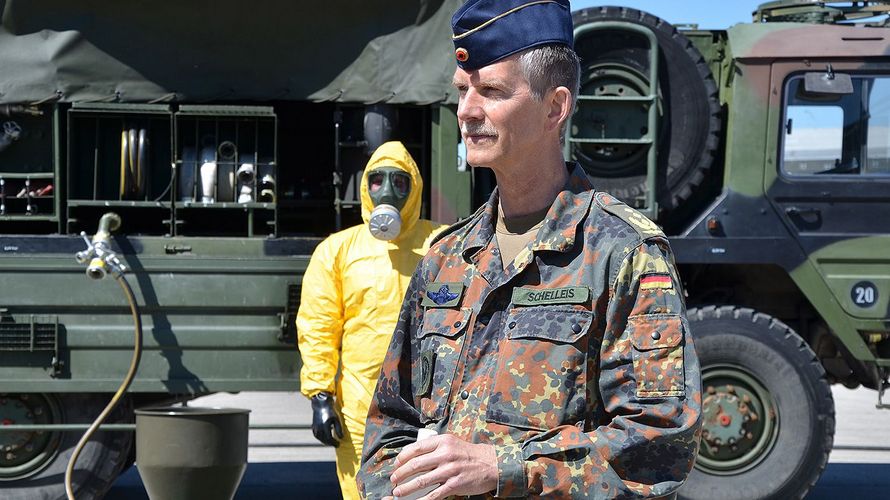
[[[655, 34], [660, 47], [658, 67], [657, 200], [672, 210], [692, 196], [705, 179], [719, 147], [720, 103], [717, 85], [701, 53], [672, 25], [651, 14], [623, 7], [592, 7], [573, 13], [575, 27], [620, 21]], [[642, 35], [605, 30], [582, 33], [575, 40], [581, 58], [581, 95], [646, 96], [649, 94], [649, 44]], [[637, 114], [609, 111], [586, 114], [579, 105], [570, 136], [633, 138], [648, 130], [640, 107]], [[627, 109], [627, 108], [623, 108]], [[633, 117], [633, 118], [632, 118]], [[603, 122], [597, 125], [599, 122]], [[617, 123], [616, 122], [626, 122]], [[597, 126], [604, 127], [601, 129]], [[636, 131], [640, 127], [640, 131]], [[580, 131], [580, 132], [579, 132]], [[573, 143], [570, 157], [580, 163], [598, 190], [608, 191], [634, 207], [643, 206], [649, 147], [644, 144]]]

